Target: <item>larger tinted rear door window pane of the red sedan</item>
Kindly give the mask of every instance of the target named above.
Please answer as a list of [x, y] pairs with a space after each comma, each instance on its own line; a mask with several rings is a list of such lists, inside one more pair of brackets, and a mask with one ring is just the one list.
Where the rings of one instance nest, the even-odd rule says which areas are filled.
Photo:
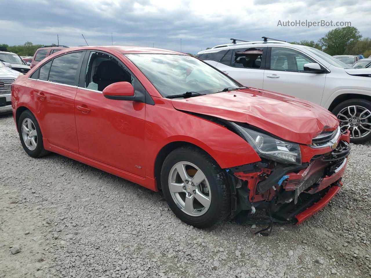
[[76, 85], [76, 70], [83, 52], [68, 53], [53, 59], [49, 81], [66, 85]]

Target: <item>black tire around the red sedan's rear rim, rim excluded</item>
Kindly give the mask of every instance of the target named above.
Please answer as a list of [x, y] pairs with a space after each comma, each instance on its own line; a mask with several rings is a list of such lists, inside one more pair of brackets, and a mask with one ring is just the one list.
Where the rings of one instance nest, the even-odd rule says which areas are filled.
[[[37, 132], [36, 148], [34, 150], [31, 150], [31, 149], [27, 148], [26, 143], [23, 140], [22, 123], [23, 123], [24, 119], [26, 119], [26, 118], [32, 120], [33, 126], [35, 127], [36, 132]], [[23, 149], [27, 153], [27, 155], [32, 156], [34, 158], [37, 158], [37, 157], [41, 157], [41, 156], [44, 156], [44, 155], [47, 155], [48, 153], [50, 153], [49, 151], [44, 149], [43, 139], [42, 139], [43, 136], [42, 136], [42, 133], [41, 133], [41, 130], [40, 130], [39, 123], [37, 122], [35, 116], [33, 116], [33, 114], [31, 113], [30, 110], [25, 110], [20, 115], [19, 120], [18, 120], [18, 133], [19, 133], [19, 139], [21, 141]]]

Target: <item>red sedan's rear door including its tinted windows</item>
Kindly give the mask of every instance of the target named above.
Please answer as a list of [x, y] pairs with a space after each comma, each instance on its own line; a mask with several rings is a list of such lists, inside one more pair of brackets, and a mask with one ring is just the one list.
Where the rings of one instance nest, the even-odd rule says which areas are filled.
[[35, 79], [33, 96], [43, 137], [49, 143], [78, 153], [75, 96], [85, 52], [72, 52], [43, 64]]

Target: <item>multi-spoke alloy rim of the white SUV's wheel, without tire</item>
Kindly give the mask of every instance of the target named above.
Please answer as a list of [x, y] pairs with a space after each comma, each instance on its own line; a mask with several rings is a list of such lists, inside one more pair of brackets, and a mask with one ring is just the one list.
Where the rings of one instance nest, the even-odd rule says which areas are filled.
[[371, 112], [359, 105], [343, 108], [337, 115], [341, 132], [350, 130], [352, 139], [363, 138], [371, 133]]

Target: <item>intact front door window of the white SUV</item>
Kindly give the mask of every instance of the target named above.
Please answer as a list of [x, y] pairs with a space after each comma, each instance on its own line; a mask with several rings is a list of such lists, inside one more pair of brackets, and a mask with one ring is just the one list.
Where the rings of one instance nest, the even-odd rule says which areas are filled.
[[316, 63], [305, 54], [286, 47], [272, 47], [270, 69], [287, 72], [305, 72], [304, 64]]

